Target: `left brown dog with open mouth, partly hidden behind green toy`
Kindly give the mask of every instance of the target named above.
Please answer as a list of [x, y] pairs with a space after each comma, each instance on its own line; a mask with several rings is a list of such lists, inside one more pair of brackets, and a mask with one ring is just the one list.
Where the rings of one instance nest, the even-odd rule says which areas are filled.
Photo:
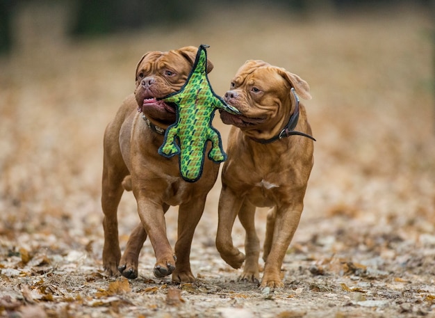
[[[148, 235], [156, 254], [156, 277], [172, 273], [172, 280], [177, 282], [195, 279], [190, 270], [190, 246], [219, 164], [204, 160], [201, 179], [190, 183], [180, 175], [177, 156], [167, 159], [158, 154], [165, 129], [176, 120], [174, 105], [158, 98], [181, 89], [196, 53], [196, 47], [183, 47], [145, 54], [136, 68], [134, 94], [126, 98], [106, 128], [101, 196], [103, 264], [111, 275], [120, 271], [127, 278], [138, 276], [138, 257]], [[212, 68], [208, 62], [207, 72]], [[142, 223], [131, 233], [121, 257], [117, 206], [124, 189], [133, 190]], [[179, 205], [174, 253], [167, 240], [164, 216], [170, 205]]]

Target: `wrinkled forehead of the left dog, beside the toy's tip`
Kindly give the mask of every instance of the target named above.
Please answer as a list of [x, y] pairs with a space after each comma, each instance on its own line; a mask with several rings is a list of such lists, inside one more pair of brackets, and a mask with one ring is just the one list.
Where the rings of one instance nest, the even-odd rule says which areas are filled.
[[139, 65], [139, 70], [145, 72], [162, 69], [165, 67], [182, 68], [188, 66], [186, 58], [176, 51], [151, 51]]

